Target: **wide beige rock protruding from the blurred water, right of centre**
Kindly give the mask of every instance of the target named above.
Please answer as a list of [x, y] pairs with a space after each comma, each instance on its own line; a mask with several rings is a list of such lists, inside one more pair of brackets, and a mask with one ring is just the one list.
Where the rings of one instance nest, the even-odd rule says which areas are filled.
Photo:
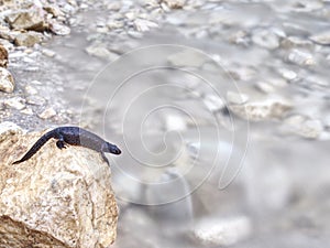
[[261, 121], [283, 118], [292, 109], [292, 104], [285, 99], [270, 98], [262, 101], [249, 101], [243, 105], [230, 105], [229, 109], [243, 119]]

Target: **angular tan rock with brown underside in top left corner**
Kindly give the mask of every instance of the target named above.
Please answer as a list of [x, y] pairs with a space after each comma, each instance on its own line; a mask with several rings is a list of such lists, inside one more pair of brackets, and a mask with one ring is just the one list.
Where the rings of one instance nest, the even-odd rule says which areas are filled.
[[6, 21], [14, 30], [44, 31], [47, 28], [43, 12], [37, 9], [20, 10], [6, 17]]

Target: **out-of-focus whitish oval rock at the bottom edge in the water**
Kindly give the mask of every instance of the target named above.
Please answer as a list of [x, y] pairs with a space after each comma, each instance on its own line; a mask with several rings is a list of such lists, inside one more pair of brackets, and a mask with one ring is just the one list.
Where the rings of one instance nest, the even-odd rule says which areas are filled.
[[194, 228], [194, 236], [205, 246], [232, 246], [252, 233], [251, 220], [245, 216], [205, 218]]

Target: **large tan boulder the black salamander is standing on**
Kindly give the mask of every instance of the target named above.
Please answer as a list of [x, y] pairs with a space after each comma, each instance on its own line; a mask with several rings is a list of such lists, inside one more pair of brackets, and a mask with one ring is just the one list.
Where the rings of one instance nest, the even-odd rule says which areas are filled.
[[118, 208], [109, 166], [97, 152], [59, 150], [54, 140], [12, 165], [41, 134], [0, 128], [0, 247], [110, 246]]

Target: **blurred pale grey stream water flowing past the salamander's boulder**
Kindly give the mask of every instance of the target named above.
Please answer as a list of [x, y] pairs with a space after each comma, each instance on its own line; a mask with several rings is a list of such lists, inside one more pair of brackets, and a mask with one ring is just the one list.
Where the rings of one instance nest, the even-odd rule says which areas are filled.
[[[292, 101], [287, 116], [329, 128], [330, 51], [308, 39], [329, 30], [328, 7], [208, 1], [167, 13], [142, 39], [100, 36], [110, 50], [129, 52], [111, 64], [84, 52], [86, 37], [98, 35], [92, 20], [107, 17], [96, 9], [50, 44], [81, 122], [123, 150], [111, 162], [121, 208], [113, 247], [327, 246], [329, 140], [282, 132], [284, 118], [239, 118], [227, 93], [280, 96]], [[305, 41], [316, 65], [288, 61], [301, 48], [285, 45], [290, 36]]]

